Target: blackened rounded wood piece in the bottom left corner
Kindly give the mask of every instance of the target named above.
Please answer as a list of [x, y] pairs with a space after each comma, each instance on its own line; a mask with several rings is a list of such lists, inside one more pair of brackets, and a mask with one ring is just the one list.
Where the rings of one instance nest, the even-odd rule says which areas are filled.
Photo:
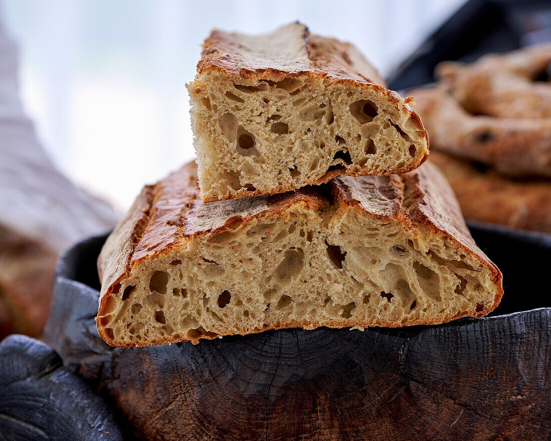
[[[45, 343], [0, 343], [0, 439], [122, 440], [111, 410]], [[12, 438], [12, 437], [15, 438]]]

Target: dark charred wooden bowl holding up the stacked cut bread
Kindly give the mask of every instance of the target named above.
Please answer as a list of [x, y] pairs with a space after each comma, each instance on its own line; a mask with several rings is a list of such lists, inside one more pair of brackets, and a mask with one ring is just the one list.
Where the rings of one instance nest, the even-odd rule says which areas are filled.
[[491, 317], [112, 348], [94, 322], [98, 237], [60, 260], [45, 338], [143, 439], [549, 440], [551, 239], [471, 227], [504, 273]]

